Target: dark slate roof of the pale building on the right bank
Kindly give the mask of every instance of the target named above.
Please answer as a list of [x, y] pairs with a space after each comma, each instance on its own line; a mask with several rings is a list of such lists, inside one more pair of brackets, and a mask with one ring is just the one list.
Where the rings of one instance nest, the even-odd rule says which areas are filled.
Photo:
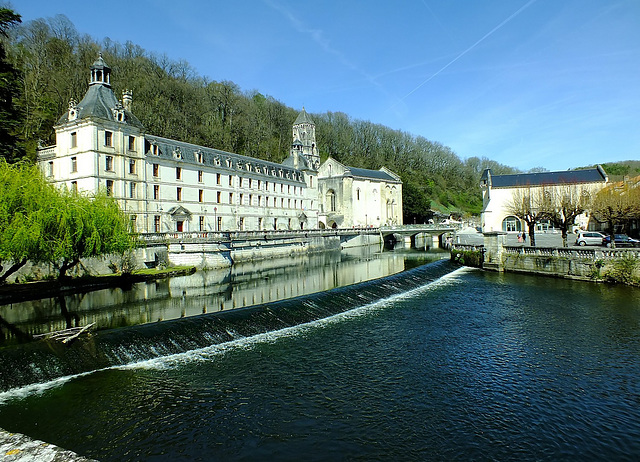
[[[483, 175], [485, 177], [485, 175]], [[561, 172], [517, 173], [513, 175], [491, 175], [492, 188], [517, 188], [559, 184], [582, 184], [606, 182], [607, 174], [602, 167]]]

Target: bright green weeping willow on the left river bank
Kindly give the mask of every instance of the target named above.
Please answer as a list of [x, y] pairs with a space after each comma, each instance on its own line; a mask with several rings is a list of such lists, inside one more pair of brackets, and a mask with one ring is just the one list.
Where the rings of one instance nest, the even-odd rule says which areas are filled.
[[27, 262], [51, 263], [62, 278], [82, 258], [122, 254], [134, 246], [130, 231], [106, 194], [59, 190], [37, 166], [0, 159], [0, 284]]

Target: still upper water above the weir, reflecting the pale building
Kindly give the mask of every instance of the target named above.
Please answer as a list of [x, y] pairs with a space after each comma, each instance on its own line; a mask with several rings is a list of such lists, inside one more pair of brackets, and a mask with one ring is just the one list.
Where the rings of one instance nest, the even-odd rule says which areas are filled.
[[[0, 317], [28, 334], [96, 323], [109, 329], [269, 303], [377, 279], [405, 269], [402, 254], [331, 252], [265, 260], [190, 276], [13, 305]], [[61, 312], [64, 306], [66, 315]], [[6, 334], [14, 337], [11, 333]]]

